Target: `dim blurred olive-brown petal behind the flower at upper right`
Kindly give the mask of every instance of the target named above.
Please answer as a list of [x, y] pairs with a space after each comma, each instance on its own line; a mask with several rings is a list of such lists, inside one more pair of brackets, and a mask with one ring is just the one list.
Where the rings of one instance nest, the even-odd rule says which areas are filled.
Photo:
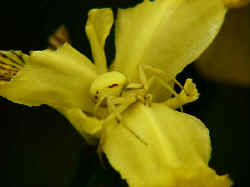
[[206, 79], [250, 87], [249, 16], [250, 6], [228, 12], [219, 35], [194, 64]]

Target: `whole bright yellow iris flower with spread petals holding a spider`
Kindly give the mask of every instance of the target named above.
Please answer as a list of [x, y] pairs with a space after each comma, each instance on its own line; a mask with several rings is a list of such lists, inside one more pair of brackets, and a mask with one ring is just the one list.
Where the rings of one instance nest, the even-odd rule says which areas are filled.
[[[111, 67], [104, 45], [113, 13], [90, 10], [85, 29], [94, 63], [67, 43], [56, 51], [30, 55], [1, 51], [0, 95], [27, 106], [55, 108], [89, 144], [101, 138], [99, 147], [131, 187], [231, 186], [227, 175], [219, 176], [208, 166], [208, 129], [199, 119], [175, 110], [198, 98], [191, 79], [182, 87], [175, 77], [213, 41], [226, 10], [221, 0], [145, 0], [120, 9]], [[105, 77], [107, 72], [113, 76]], [[120, 91], [109, 94], [121, 77], [126, 81]], [[96, 80], [97, 91], [106, 89], [98, 108], [97, 95], [91, 92]], [[149, 80], [153, 84], [146, 89]], [[182, 87], [180, 93], [174, 83]], [[124, 100], [110, 111], [110, 98]]]

